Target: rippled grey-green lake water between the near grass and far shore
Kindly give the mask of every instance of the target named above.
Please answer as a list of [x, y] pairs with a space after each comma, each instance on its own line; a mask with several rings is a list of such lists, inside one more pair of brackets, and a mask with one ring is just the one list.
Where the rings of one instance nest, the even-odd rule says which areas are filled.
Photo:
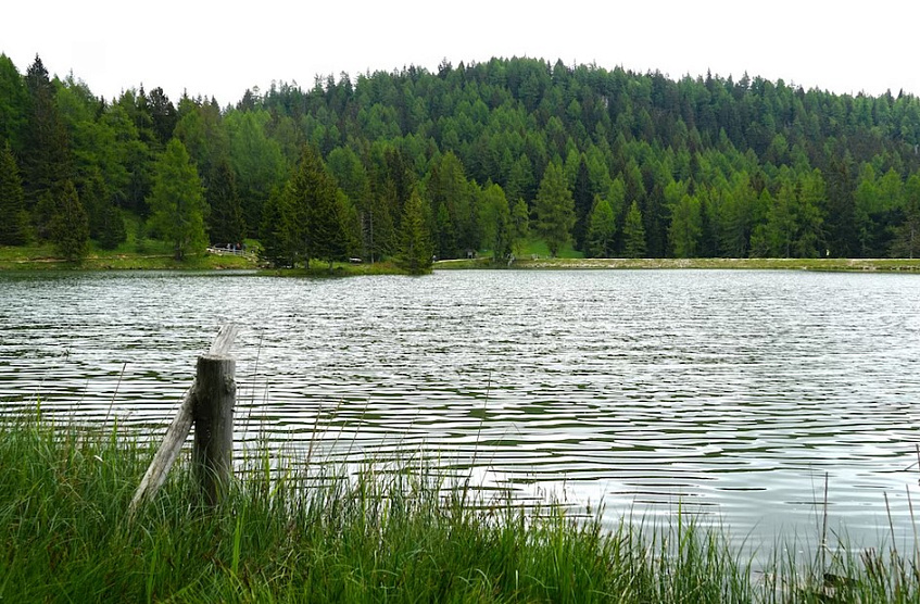
[[428, 460], [736, 540], [912, 546], [920, 277], [804, 272], [0, 275], [0, 403], [159, 438], [237, 322], [240, 446]]

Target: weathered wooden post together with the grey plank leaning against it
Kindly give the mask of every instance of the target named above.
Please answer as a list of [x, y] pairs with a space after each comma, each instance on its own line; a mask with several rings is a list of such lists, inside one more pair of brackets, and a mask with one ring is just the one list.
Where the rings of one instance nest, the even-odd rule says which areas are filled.
[[[131, 514], [137, 512], [144, 501], [152, 499], [166, 481], [166, 475], [179, 456], [182, 443], [188, 438], [189, 430], [191, 430], [192, 421], [196, 423], [196, 444], [192, 454], [197, 468], [199, 467], [198, 460], [202, 461], [201, 471], [196, 470], [196, 473], [201, 480], [204, 495], [209, 502], [215, 503], [226, 493], [225, 489], [229, 482], [230, 468], [232, 467], [232, 417], [236, 398], [236, 383], [234, 381], [236, 362], [227, 356], [227, 353], [230, 351], [236, 336], [236, 325], [224, 325], [211, 344], [211, 350], [199, 358], [198, 377], [182, 399], [182, 404], [179, 405], [176, 417], [166, 429], [166, 436], [163, 437], [160, 449], [153, 456], [150, 467], [147, 468], [137, 491], [135, 491], [130, 504]], [[203, 369], [202, 360], [205, 360]], [[219, 361], [212, 363], [207, 360]], [[202, 379], [206, 385], [204, 387], [200, 387]], [[199, 400], [207, 401], [212, 395], [223, 402], [219, 405], [213, 405], [213, 407], [207, 402], [199, 403]], [[203, 408], [219, 408], [220, 411], [216, 413], [203, 412]], [[215, 414], [219, 419], [213, 419]], [[199, 415], [202, 416], [201, 423], [197, 419]], [[217, 435], [217, 438], [215, 439], [213, 435]], [[199, 441], [201, 445], [199, 445]], [[201, 457], [199, 457], [199, 448], [201, 449]], [[223, 453], [220, 453], [222, 451]], [[214, 455], [213, 458], [212, 454]]]

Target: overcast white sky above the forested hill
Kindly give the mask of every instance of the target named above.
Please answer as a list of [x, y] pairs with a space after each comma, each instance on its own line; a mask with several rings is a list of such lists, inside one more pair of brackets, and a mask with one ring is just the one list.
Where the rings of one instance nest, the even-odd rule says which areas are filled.
[[2, 12], [0, 52], [21, 73], [37, 53], [106, 99], [142, 84], [226, 105], [272, 80], [310, 88], [317, 74], [492, 56], [920, 95], [918, 0], [46, 0]]

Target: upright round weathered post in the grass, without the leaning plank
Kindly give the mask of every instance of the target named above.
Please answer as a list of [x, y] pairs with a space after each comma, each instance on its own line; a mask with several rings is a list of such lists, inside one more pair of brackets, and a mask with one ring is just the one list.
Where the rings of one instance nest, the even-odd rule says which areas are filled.
[[223, 354], [198, 357], [192, 464], [197, 482], [211, 505], [224, 500], [232, 475], [236, 367], [237, 362]]

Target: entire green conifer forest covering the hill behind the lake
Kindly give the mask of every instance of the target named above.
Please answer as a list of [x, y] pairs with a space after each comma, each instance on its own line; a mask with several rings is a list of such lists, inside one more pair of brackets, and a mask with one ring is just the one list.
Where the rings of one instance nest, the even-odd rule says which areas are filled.
[[920, 101], [746, 74], [446, 60], [235, 104], [94, 96], [0, 54], [0, 244], [71, 260], [135, 229], [276, 266], [520, 254], [915, 257]]

